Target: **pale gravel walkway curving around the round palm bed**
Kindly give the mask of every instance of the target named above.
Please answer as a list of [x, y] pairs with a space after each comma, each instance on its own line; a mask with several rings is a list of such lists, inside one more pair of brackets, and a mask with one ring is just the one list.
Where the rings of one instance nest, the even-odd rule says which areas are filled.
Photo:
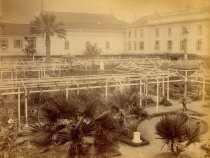
[[[173, 101], [174, 106], [170, 107], [159, 107], [159, 112], [169, 112], [182, 108], [182, 105], [178, 104], [178, 102]], [[195, 110], [201, 113], [206, 114], [207, 116], [201, 117], [202, 120], [208, 122], [208, 126], [210, 127], [210, 108], [203, 107], [202, 102], [193, 102], [188, 105], [188, 108], [191, 110]], [[150, 114], [156, 112], [156, 108], [149, 108], [148, 112]], [[163, 143], [160, 139], [156, 139], [158, 136], [155, 134], [155, 124], [158, 122], [160, 117], [155, 117], [150, 120], [143, 121], [138, 126], [138, 131], [150, 141], [150, 144], [142, 147], [131, 147], [126, 144], [120, 144], [120, 152], [122, 153], [121, 158], [155, 158], [156, 155], [160, 153], [167, 152], [167, 147], [165, 146], [163, 149]], [[184, 152], [184, 154], [190, 156], [191, 158], [204, 158], [205, 151], [200, 148], [202, 144], [205, 144], [210, 139], [210, 132], [208, 130], [207, 133], [203, 135], [203, 141], [201, 143], [197, 143], [195, 145], [191, 145], [188, 150]]]

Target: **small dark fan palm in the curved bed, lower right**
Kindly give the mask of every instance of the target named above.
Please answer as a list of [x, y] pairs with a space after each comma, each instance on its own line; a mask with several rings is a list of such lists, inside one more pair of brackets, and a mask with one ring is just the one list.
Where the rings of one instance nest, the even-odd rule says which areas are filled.
[[156, 134], [169, 146], [172, 154], [179, 156], [192, 143], [200, 142], [201, 127], [185, 113], [162, 116], [156, 124]]

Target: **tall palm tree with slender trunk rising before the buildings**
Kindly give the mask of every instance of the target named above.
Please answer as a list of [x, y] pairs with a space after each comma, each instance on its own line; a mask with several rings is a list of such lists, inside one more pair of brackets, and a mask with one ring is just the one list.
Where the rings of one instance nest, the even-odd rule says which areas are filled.
[[65, 30], [63, 24], [56, 22], [56, 16], [49, 13], [41, 13], [31, 21], [30, 31], [32, 34], [44, 34], [46, 46], [46, 60], [50, 61], [50, 37], [55, 34], [65, 39]]

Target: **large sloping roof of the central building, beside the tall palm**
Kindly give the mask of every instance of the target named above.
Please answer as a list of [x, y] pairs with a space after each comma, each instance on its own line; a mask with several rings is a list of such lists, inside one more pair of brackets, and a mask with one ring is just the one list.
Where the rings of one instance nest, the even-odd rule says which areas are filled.
[[56, 21], [62, 22], [66, 29], [85, 30], [119, 30], [127, 23], [118, 20], [111, 14], [49, 12], [56, 16]]

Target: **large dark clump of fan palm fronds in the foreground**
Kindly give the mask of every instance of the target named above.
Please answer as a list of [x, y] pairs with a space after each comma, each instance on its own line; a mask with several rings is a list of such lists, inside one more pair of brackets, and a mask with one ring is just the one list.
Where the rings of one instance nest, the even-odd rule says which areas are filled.
[[[95, 157], [110, 157], [118, 151], [119, 126], [103, 115], [101, 100], [91, 93], [49, 97], [42, 108], [40, 124], [33, 124], [31, 143], [43, 151], [68, 146], [68, 157], [86, 157], [94, 147]], [[93, 153], [92, 153], [93, 154]]]

